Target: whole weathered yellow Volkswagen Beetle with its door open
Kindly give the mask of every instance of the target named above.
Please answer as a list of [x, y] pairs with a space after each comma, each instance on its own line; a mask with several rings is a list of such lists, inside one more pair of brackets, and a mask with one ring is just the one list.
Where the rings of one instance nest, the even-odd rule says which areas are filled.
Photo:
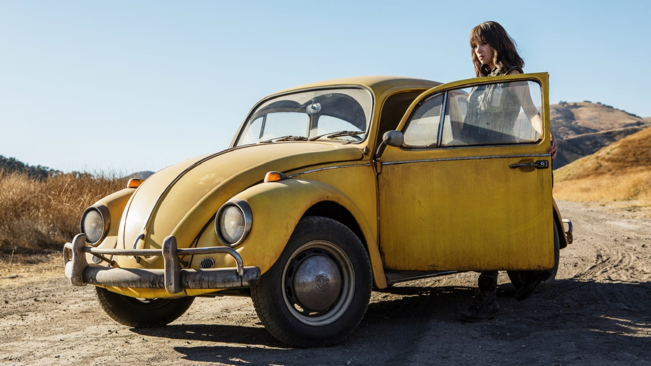
[[[251, 296], [273, 336], [303, 347], [344, 339], [371, 290], [396, 282], [549, 270], [549, 285], [572, 228], [551, 197], [547, 88], [540, 73], [278, 92], [227, 150], [90, 206], [66, 277], [133, 327], [168, 324], [195, 296]], [[499, 105], [508, 92], [526, 96], [517, 110]]]

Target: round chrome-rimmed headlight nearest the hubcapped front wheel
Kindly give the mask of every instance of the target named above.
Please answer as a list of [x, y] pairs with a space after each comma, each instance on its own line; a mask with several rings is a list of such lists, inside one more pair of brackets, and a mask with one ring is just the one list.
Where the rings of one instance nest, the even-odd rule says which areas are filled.
[[215, 215], [215, 232], [221, 242], [234, 247], [243, 242], [251, 231], [251, 207], [241, 199], [225, 203]]

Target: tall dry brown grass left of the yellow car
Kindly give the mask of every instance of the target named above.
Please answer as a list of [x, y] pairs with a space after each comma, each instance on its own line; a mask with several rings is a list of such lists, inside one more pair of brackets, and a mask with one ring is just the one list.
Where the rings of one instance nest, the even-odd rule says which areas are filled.
[[70, 173], [40, 181], [0, 172], [0, 261], [59, 251], [79, 232], [83, 210], [125, 184], [105, 175]]

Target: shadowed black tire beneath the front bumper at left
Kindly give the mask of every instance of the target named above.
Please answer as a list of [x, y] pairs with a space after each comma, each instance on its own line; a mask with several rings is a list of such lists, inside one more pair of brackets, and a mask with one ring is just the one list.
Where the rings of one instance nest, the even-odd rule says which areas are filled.
[[165, 326], [183, 315], [195, 301], [193, 296], [180, 299], [139, 299], [95, 287], [102, 309], [116, 322], [133, 328]]

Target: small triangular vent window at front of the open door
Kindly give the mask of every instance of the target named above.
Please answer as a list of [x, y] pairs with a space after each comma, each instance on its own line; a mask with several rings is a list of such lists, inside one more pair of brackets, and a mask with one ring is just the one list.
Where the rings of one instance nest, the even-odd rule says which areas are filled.
[[404, 132], [405, 147], [435, 147], [441, 123], [443, 94], [437, 94], [424, 101], [416, 109]]

